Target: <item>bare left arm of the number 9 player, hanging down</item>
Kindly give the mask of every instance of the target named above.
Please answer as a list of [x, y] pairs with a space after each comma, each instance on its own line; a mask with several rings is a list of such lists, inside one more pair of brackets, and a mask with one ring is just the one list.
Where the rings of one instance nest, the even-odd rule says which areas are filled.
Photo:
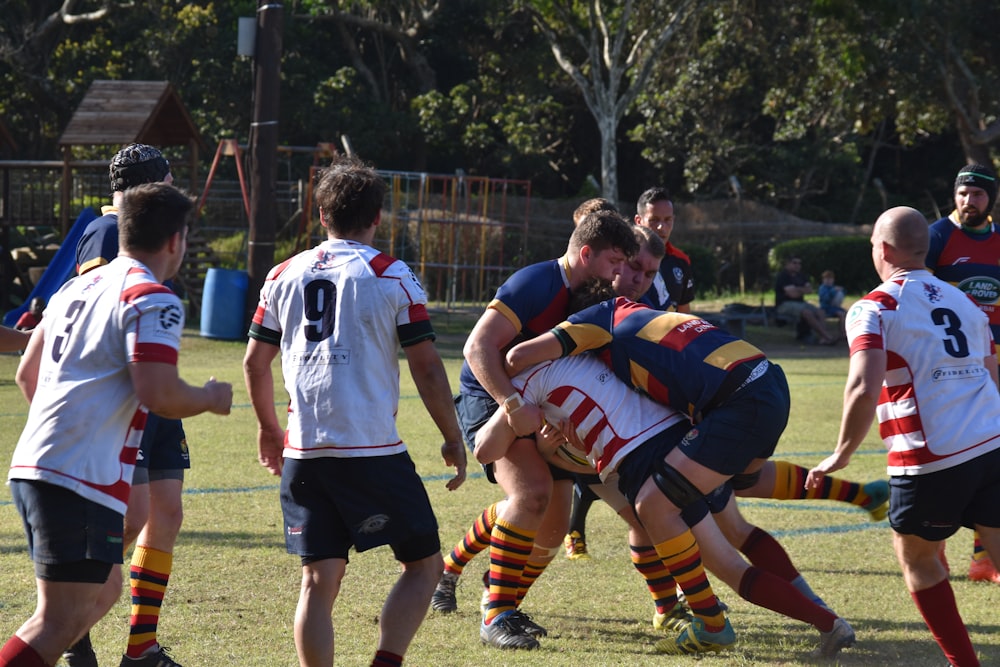
[[243, 357], [243, 380], [250, 405], [257, 417], [257, 460], [272, 475], [281, 475], [285, 431], [274, 409], [274, 376], [271, 362], [278, 356], [278, 346], [251, 338]]

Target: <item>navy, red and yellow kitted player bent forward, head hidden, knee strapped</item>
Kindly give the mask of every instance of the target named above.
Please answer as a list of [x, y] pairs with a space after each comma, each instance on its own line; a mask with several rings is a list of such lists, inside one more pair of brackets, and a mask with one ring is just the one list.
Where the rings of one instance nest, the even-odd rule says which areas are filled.
[[[654, 540], [662, 538], [657, 552], [677, 577], [686, 563], [701, 560], [682, 512], [697, 507], [734, 475], [755, 473], [773, 453], [788, 419], [784, 374], [763, 352], [701, 318], [652, 310], [622, 298], [585, 308], [555, 329], [518, 344], [508, 352], [507, 362], [510, 372], [518, 373], [535, 363], [588, 350], [597, 350], [630, 388], [686, 414], [695, 424], [655, 462], [633, 496], [640, 521], [646, 525], [647, 517], [655, 518], [662, 529], [654, 534], [646, 525]], [[683, 589], [684, 582], [677, 578]], [[742, 595], [740, 588], [737, 582], [734, 590]], [[705, 591], [707, 595], [687, 598], [701, 620], [698, 629], [711, 635], [724, 630], [724, 618], [714, 611], [715, 596], [707, 581]], [[844, 645], [853, 642], [853, 632], [834, 615], [814, 621], [821, 632], [833, 633], [827, 636], [842, 636]]]

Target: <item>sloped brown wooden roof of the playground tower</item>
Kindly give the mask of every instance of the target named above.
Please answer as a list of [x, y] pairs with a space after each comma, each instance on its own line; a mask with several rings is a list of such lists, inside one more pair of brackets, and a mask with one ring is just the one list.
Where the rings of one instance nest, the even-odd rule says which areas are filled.
[[205, 148], [169, 81], [94, 81], [59, 138], [60, 146], [133, 142]]

